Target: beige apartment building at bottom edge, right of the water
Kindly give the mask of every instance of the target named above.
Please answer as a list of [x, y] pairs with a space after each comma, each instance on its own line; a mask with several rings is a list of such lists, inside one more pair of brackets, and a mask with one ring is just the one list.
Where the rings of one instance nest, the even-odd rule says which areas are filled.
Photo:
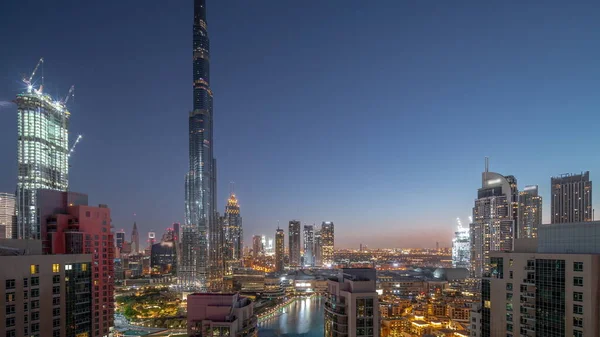
[[379, 300], [375, 269], [345, 268], [327, 281], [325, 337], [378, 337]]

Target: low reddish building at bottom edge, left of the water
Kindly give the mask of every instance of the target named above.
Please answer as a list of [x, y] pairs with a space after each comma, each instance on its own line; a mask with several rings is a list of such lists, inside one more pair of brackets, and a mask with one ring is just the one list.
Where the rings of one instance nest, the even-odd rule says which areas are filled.
[[253, 303], [239, 294], [188, 295], [187, 330], [190, 337], [256, 337]]

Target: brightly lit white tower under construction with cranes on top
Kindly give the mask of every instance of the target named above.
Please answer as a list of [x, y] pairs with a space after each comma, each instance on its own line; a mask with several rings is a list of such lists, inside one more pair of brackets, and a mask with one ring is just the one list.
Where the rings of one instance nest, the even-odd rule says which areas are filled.
[[37, 194], [69, 186], [69, 116], [62, 102], [29, 87], [17, 95], [18, 239], [41, 239]]

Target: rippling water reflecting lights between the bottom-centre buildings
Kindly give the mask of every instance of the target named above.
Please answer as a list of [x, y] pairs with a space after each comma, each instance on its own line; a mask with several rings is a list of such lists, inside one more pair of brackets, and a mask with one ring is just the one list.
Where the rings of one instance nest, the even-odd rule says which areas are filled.
[[322, 337], [323, 336], [323, 298], [298, 299], [275, 317], [258, 323], [261, 337]]

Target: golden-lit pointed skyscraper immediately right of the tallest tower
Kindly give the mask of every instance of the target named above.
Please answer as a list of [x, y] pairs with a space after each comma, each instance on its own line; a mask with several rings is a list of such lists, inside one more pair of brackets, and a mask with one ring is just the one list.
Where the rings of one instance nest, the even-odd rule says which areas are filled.
[[223, 223], [223, 262], [225, 263], [225, 274], [232, 275], [234, 267], [241, 267], [240, 260], [243, 252], [243, 231], [240, 205], [231, 194], [225, 206], [225, 222]]

